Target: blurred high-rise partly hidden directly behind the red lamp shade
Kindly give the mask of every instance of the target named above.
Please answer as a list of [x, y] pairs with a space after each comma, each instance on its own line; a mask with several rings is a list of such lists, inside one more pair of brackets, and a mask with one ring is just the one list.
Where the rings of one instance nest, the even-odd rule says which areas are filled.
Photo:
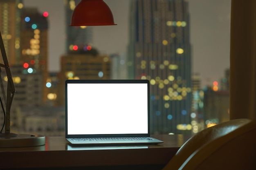
[[[74, 8], [81, 0], [65, 1], [65, 22], [70, 25], [70, 20]], [[92, 45], [92, 27], [87, 26], [66, 26], [66, 53], [70, 53], [74, 48], [86, 48]]]

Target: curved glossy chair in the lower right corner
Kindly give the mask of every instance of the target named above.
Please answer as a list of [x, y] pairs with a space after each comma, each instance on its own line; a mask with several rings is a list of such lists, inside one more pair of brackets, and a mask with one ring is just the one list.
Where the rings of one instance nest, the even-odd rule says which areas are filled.
[[236, 119], [204, 129], [163, 170], [256, 170], [256, 121]]

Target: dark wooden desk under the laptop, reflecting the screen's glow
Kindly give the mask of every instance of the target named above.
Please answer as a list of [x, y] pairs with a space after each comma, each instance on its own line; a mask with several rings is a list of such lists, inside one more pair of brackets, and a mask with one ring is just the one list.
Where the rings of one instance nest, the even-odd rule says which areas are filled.
[[46, 137], [45, 146], [0, 148], [0, 169], [161, 169], [192, 135], [152, 135], [158, 145], [70, 148], [65, 137]]

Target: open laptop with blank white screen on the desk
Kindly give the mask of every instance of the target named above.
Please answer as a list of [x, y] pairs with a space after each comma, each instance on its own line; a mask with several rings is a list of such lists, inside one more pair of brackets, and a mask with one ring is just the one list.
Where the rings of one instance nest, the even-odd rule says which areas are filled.
[[73, 145], [159, 144], [150, 137], [148, 80], [65, 81], [65, 137]]

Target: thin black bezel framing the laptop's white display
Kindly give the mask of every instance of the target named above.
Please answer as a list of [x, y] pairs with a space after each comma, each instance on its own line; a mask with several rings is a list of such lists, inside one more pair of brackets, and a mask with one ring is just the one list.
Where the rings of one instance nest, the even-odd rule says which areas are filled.
[[[70, 135], [67, 134], [68, 130], [68, 120], [67, 120], [67, 85], [69, 83], [145, 83], [147, 84], [147, 102], [148, 102], [148, 133], [136, 133], [136, 134], [94, 134], [94, 135]], [[149, 105], [149, 81], [148, 80], [66, 80], [65, 81], [65, 137], [71, 138], [71, 137], [148, 137], [150, 136], [150, 105]]]

